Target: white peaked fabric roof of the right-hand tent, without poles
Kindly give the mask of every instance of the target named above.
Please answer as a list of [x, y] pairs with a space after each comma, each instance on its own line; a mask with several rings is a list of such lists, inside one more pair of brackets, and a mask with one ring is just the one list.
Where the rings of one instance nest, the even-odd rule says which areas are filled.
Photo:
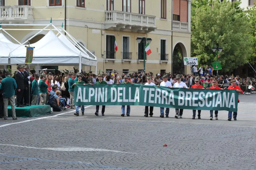
[[[65, 37], [63, 38], [65, 39]], [[49, 31], [41, 40], [30, 44], [34, 49], [33, 64], [78, 64], [79, 56], [82, 56], [82, 64], [96, 66], [97, 59], [91, 58], [88, 54], [77, 49], [68, 40], [60, 40], [52, 31]], [[64, 43], [64, 42], [66, 43]], [[69, 43], [67, 43], [69, 42]], [[19, 44], [15, 44], [15, 46]], [[9, 47], [12, 50], [16, 49]], [[21, 45], [10, 53], [11, 64], [23, 64], [26, 58], [26, 47]]]

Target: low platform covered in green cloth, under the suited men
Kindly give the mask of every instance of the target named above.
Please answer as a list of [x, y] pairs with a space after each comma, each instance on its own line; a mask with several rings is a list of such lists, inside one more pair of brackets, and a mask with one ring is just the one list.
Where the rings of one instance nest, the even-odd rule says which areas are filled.
[[[50, 105], [31, 105], [26, 107], [16, 107], [16, 117], [18, 118], [31, 118], [37, 116], [44, 116], [51, 113]], [[8, 117], [12, 117], [11, 105], [8, 105]]]

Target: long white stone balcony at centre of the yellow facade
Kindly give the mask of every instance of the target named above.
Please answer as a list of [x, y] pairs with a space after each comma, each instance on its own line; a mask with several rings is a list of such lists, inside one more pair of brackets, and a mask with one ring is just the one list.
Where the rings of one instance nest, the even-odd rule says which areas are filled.
[[149, 33], [156, 30], [156, 17], [131, 12], [105, 11], [105, 29]]

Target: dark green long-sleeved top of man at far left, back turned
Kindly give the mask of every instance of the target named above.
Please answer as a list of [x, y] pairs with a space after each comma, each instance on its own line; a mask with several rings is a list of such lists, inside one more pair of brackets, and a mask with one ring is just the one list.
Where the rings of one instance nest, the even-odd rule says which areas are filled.
[[0, 89], [3, 89], [3, 97], [12, 97], [17, 89], [15, 79], [7, 76], [1, 82]]

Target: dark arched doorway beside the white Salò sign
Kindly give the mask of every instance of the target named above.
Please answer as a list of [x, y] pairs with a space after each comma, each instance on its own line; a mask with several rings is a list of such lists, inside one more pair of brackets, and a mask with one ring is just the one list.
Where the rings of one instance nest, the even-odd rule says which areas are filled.
[[177, 43], [173, 48], [172, 54], [172, 73], [173, 74], [184, 74], [184, 57], [187, 57], [186, 48], [182, 43]]

